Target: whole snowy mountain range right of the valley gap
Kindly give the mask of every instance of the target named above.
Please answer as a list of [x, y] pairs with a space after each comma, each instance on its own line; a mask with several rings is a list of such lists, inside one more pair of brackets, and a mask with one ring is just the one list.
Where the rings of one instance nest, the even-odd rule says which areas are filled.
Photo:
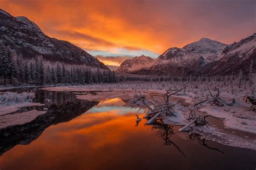
[[205, 76], [248, 73], [253, 60], [256, 66], [256, 33], [227, 45], [208, 38], [188, 44], [183, 48], [171, 47], [154, 61], [134, 58], [125, 60], [117, 71], [163, 76]]

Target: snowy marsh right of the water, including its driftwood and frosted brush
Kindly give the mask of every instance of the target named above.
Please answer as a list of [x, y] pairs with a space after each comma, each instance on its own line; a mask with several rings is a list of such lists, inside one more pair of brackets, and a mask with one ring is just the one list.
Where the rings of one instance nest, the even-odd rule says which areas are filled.
[[[130, 107], [145, 109], [147, 124], [161, 121], [181, 126], [181, 131], [224, 145], [256, 149], [254, 78], [131, 82], [46, 87], [49, 91], [73, 91], [78, 99], [130, 100]], [[167, 93], [166, 93], [167, 92]], [[170, 95], [167, 100], [166, 95]], [[254, 98], [255, 99], [255, 98]], [[184, 132], [177, 132], [182, 134]], [[186, 133], [186, 132], [185, 132]], [[239, 134], [239, 135], [238, 135]]]

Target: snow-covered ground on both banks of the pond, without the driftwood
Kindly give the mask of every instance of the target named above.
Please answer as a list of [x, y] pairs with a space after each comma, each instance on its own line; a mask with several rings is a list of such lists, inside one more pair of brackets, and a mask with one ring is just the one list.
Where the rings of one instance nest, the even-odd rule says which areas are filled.
[[[212, 115], [223, 120], [209, 118], [208, 127], [191, 124], [185, 130], [191, 133], [199, 133], [201, 138], [212, 140], [224, 145], [256, 149], [256, 113], [247, 100], [247, 96], [253, 92], [253, 86], [248, 81], [162, 81], [162, 82], [132, 82], [118, 84], [92, 84], [77, 86], [51, 86], [42, 87], [47, 91], [71, 91], [79, 100], [103, 101], [106, 99], [120, 98], [127, 107], [144, 108], [143, 104], [132, 101], [134, 96], [141, 94], [147, 101], [157, 100], [164, 102], [163, 94], [166, 90], [172, 92], [185, 87], [184, 90], [171, 97], [173, 103], [177, 103], [173, 109], [173, 115], [158, 114], [164, 124], [185, 126], [191, 121], [187, 120], [190, 110], [197, 115]], [[211, 98], [218, 93], [223, 105], [212, 104]], [[153, 96], [153, 98], [152, 98]], [[33, 92], [2, 92], [0, 97], [0, 128], [24, 124], [35, 119], [46, 111], [23, 111], [21, 108], [28, 106], [43, 106], [44, 104], [32, 103], [35, 97]], [[177, 102], [179, 100], [179, 103]], [[207, 101], [205, 101], [207, 100]], [[201, 103], [202, 101], [205, 101]], [[200, 104], [198, 104], [200, 103]], [[145, 116], [146, 117], [146, 116]], [[151, 120], [153, 121], [153, 119]], [[150, 124], [150, 123], [149, 123]], [[187, 138], [188, 132], [176, 132], [181, 138]]]

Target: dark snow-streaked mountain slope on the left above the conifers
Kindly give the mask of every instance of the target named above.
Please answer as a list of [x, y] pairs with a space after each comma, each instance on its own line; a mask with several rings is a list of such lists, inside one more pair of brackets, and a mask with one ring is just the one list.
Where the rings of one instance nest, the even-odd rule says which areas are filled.
[[50, 38], [28, 18], [13, 17], [2, 9], [0, 9], [0, 44], [10, 46], [24, 58], [41, 55], [44, 59], [54, 62], [108, 70], [107, 66], [79, 47], [64, 40]]

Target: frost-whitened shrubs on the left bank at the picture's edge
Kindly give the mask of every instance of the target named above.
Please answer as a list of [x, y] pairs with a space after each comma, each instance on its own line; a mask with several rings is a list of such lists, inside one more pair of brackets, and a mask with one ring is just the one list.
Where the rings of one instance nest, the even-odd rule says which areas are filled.
[[35, 97], [35, 93], [4, 92], [0, 94], [0, 105], [11, 103], [29, 103]]

